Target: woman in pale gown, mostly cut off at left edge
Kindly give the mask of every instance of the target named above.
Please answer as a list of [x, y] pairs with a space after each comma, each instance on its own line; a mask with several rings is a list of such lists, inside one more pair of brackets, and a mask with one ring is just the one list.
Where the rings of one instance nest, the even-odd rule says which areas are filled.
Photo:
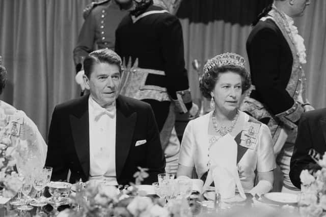
[[[0, 95], [6, 82], [7, 71], [0, 56]], [[9, 137], [16, 147], [17, 168], [44, 166], [47, 145], [35, 123], [23, 111], [0, 100], [0, 138], [4, 137]]]

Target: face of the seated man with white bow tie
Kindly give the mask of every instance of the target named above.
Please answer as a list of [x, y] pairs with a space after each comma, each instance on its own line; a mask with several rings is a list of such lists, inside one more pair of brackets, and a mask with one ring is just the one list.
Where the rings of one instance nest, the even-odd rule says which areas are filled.
[[114, 64], [95, 64], [90, 78], [84, 75], [91, 97], [102, 107], [110, 106], [119, 95], [120, 71]]

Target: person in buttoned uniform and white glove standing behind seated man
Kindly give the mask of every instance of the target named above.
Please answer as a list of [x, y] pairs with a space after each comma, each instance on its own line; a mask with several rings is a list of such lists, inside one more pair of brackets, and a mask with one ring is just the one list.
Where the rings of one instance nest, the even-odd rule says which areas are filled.
[[122, 18], [132, 7], [132, 0], [104, 0], [92, 2], [84, 10], [85, 22], [80, 29], [78, 41], [73, 50], [77, 84], [85, 90], [83, 60], [94, 50], [114, 50], [115, 31]]

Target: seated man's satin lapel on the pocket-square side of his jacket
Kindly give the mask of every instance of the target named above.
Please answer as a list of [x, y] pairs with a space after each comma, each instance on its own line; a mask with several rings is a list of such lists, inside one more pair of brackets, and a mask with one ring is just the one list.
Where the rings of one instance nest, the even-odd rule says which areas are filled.
[[[120, 99], [119, 99], [120, 98]], [[129, 154], [135, 128], [137, 113], [130, 113], [127, 106], [119, 97], [117, 100], [116, 127], [116, 173], [119, 179]]]

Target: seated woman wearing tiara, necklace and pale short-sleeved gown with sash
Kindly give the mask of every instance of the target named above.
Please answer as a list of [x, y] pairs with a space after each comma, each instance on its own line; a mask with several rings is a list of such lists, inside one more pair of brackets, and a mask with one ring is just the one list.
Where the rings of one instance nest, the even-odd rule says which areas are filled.
[[[182, 138], [177, 176], [191, 177], [195, 167], [198, 177], [210, 185], [216, 180], [229, 181], [225, 179], [232, 175], [223, 175], [229, 171], [236, 176], [235, 182], [240, 180], [236, 186], [244, 192], [261, 195], [273, 188], [276, 164], [270, 131], [238, 110], [241, 95], [249, 87], [250, 75], [242, 56], [225, 53], [207, 61], [200, 89], [214, 109], [189, 121]], [[218, 172], [209, 175], [216, 167], [220, 168]], [[254, 187], [256, 174], [258, 184]]]

